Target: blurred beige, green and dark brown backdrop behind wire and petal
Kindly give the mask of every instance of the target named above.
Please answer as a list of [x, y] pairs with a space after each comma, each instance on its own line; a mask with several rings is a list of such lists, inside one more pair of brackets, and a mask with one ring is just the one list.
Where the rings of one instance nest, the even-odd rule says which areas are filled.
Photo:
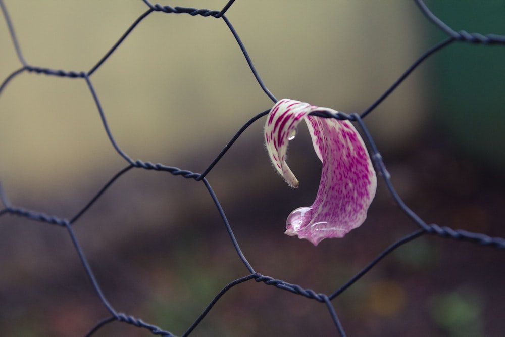
[[[226, 1], [162, 5], [221, 9]], [[505, 34], [505, 2], [429, 1], [455, 30]], [[32, 66], [88, 71], [147, 10], [138, 1], [5, 1]], [[414, 2], [237, 1], [227, 17], [278, 98], [361, 112], [444, 38]], [[21, 67], [0, 25], [0, 78]], [[392, 181], [429, 223], [505, 236], [505, 49], [453, 43], [424, 62], [365, 122]], [[226, 24], [152, 13], [90, 80], [119, 146], [134, 160], [203, 172], [233, 134], [273, 103]], [[332, 293], [415, 230], [379, 181], [368, 220], [318, 247], [283, 234], [320, 178], [306, 129], [291, 142], [289, 188], [249, 127], [208, 175], [257, 272]], [[24, 72], [0, 92], [0, 182], [15, 206], [73, 217], [126, 162], [82, 79]], [[109, 316], [67, 232], [0, 217], [0, 334], [82, 336]], [[75, 224], [109, 302], [184, 333], [228, 282], [245, 276], [205, 186], [131, 170]], [[333, 301], [349, 336], [500, 336], [503, 252], [422, 237]], [[232, 288], [194, 336], [333, 336], [324, 305], [254, 281]], [[147, 336], [112, 323], [95, 336]]]

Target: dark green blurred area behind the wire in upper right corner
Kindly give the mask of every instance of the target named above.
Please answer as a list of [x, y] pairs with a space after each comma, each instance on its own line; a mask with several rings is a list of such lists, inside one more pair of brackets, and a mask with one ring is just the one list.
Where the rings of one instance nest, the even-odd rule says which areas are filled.
[[[457, 31], [505, 34], [503, 1], [432, 1], [430, 6]], [[456, 44], [431, 61], [436, 80], [430, 85], [431, 110], [459, 151], [481, 160], [484, 167], [500, 171], [505, 170], [503, 60], [502, 45]]]

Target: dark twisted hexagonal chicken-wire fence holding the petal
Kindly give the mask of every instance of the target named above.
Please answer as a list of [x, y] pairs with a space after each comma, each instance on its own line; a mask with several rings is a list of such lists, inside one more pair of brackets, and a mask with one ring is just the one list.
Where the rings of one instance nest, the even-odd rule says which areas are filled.
[[[354, 277], [348, 279], [343, 285], [336, 288], [333, 292], [325, 294], [319, 293], [317, 291], [313, 291], [311, 289], [306, 289], [297, 284], [290, 283], [288, 281], [276, 279], [274, 277], [266, 276], [255, 270], [254, 266], [248, 261], [247, 257], [243, 254], [239, 242], [235, 238], [235, 235], [232, 230], [232, 224], [228, 221], [225, 211], [221, 206], [221, 203], [218, 199], [218, 196], [214, 192], [211, 187], [210, 181], [207, 179], [208, 174], [214, 169], [216, 164], [225, 156], [228, 150], [233, 147], [235, 141], [242, 135], [242, 133], [253, 123], [260, 120], [262, 117], [266, 116], [270, 109], [266, 109], [265, 111], [257, 114], [256, 116], [251, 117], [237, 132], [236, 134], [229, 140], [223, 150], [215, 157], [215, 159], [208, 165], [208, 167], [201, 173], [191, 172], [189, 170], [181, 169], [178, 167], [167, 166], [160, 163], [151, 163], [144, 162], [142, 160], [134, 160], [132, 159], [125, 151], [122, 150], [120, 144], [116, 141], [109, 126], [106, 113], [100, 104], [100, 100], [98, 98], [95, 87], [92, 84], [91, 78], [95, 71], [100, 68], [104, 64], [104, 62], [116, 51], [117, 47], [123, 43], [123, 41], [129, 36], [129, 34], [137, 27], [137, 25], [142, 22], [144, 19], [147, 19], [151, 14], [156, 12], [162, 12], [166, 14], [189, 14], [191, 16], [204, 16], [204, 17], [213, 17], [218, 20], [223, 20], [224, 24], [228, 27], [231, 34], [234, 36], [236, 43], [240, 47], [241, 52], [243, 53], [243, 57], [247, 62], [252, 75], [256, 78], [258, 85], [263, 89], [264, 93], [272, 100], [272, 102], [277, 102], [277, 98], [274, 94], [267, 88], [267, 85], [263, 82], [260, 72], [255, 69], [255, 66], [249, 57], [247, 50], [242, 43], [237, 31], [234, 29], [231, 21], [225, 15], [227, 11], [230, 9], [232, 5], [234, 5], [234, 1], [229, 1], [222, 9], [219, 10], [208, 10], [208, 9], [195, 9], [195, 8], [186, 8], [186, 7], [171, 7], [171, 6], [162, 6], [162, 5], [153, 5], [149, 1], [143, 1], [146, 6], [146, 11], [142, 13], [135, 22], [124, 32], [121, 38], [111, 47], [111, 49], [88, 71], [64, 71], [64, 70], [56, 70], [51, 68], [44, 68], [35, 65], [31, 65], [25, 60], [22, 52], [22, 42], [18, 41], [17, 35], [15, 33], [15, 25], [16, 22], [11, 21], [8, 8], [5, 5], [3, 0], [0, 0], [0, 7], [2, 8], [2, 12], [4, 15], [4, 19], [7, 23], [7, 27], [9, 29], [10, 36], [12, 38], [12, 42], [14, 44], [14, 48], [17, 53], [17, 57], [21, 62], [22, 66], [13, 71], [0, 85], [0, 94], [4, 91], [6, 86], [12, 81], [16, 80], [16, 77], [22, 73], [26, 72], [34, 72], [38, 74], [44, 74], [47, 76], [57, 76], [57, 77], [70, 77], [77, 78], [84, 81], [89, 89], [94, 103], [96, 105], [96, 110], [99, 113], [99, 116], [102, 120], [105, 132], [110, 140], [111, 145], [114, 147], [115, 151], [124, 159], [126, 162], [126, 166], [119, 170], [100, 190], [98, 190], [95, 196], [87, 202], [81, 209], [71, 218], [62, 218], [57, 215], [48, 215], [42, 212], [38, 212], [37, 210], [26, 209], [19, 205], [13, 205], [10, 201], [6, 193], [0, 188], [0, 199], [2, 201], [2, 209], [0, 209], [0, 216], [19, 216], [24, 217], [26, 219], [30, 219], [33, 221], [38, 221], [46, 224], [56, 225], [62, 227], [67, 231], [69, 237], [72, 240], [75, 251], [77, 252], [80, 261], [82, 263], [82, 268], [85, 270], [89, 281], [91, 282], [94, 292], [99, 297], [103, 306], [109, 312], [109, 317], [105, 317], [102, 321], [98, 322], [95, 326], [91, 327], [86, 336], [96, 335], [100, 329], [103, 329], [106, 325], [109, 325], [113, 322], [122, 322], [124, 324], [130, 324], [132, 326], [138, 327], [140, 329], [146, 329], [150, 331], [153, 335], [164, 335], [164, 336], [173, 336], [172, 332], [170, 332], [170, 326], [167, 327], [168, 330], [164, 330], [161, 327], [156, 325], [147, 323], [142, 321], [139, 318], [133, 317], [131, 315], [122, 313], [118, 311], [107, 298], [107, 294], [104, 294], [102, 288], [100, 287], [100, 280], [94, 276], [93, 269], [90, 264], [87, 262], [84, 251], [81, 248], [79, 240], [74, 232], [73, 225], [81, 219], [83, 214], [85, 214], [95, 203], [100, 202], [100, 197], [104, 195], [104, 193], [108, 190], [108, 188], [113, 185], [118, 178], [127, 174], [133, 169], [144, 169], [144, 170], [154, 170], [154, 171], [164, 171], [169, 172], [173, 175], [179, 175], [186, 179], [193, 179], [198, 182], [201, 182], [205, 185], [205, 188], [208, 191], [210, 198], [212, 198], [216, 210], [219, 213], [223, 224], [225, 225], [225, 230], [229, 235], [229, 239], [231, 240], [236, 254], [245, 265], [248, 270], [248, 273], [240, 278], [231, 280], [226, 286], [222, 288], [222, 290], [215, 295], [214, 299], [208, 304], [208, 306], [201, 312], [201, 314], [195, 318], [194, 322], [187, 327], [187, 330], [182, 334], [183, 336], [189, 336], [192, 334], [193, 330], [202, 322], [207, 314], [214, 308], [216, 303], [226, 295], [226, 293], [233, 287], [244, 283], [255, 280], [256, 282], [262, 282], [267, 285], [271, 285], [279, 290], [287, 291], [294, 295], [299, 295], [302, 297], [306, 297], [308, 299], [320, 302], [322, 306], [325, 306], [329, 312], [331, 320], [335, 326], [335, 335], [345, 336], [345, 322], [341, 322], [339, 320], [339, 315], [337, 314], [333, 302], [336, 300], [342, 293], [344, 293], [349, 287], [354, 285], [360, 278], [362, 278], [367, 272], [369, 272], [372, 268], [374, 268], [384, 257], [388, 256], [390, 253], [395, 251], [397, 248], [402, 245], [408, 244], [413, 240], [416, 240], [422, 236], [432, 235], [438, 236], [446, 239], [452, 240], [460, 240], [467, 241], [475, 245], [492, 247], [495, 249], [503, 249], [505, 248], [505, 238], [502, 237], [490, 237], [484, 233], [476, 233], [470, 232], [467, 230], [461, 229], [453, 229], [445, 226], [441, 226], [435, 223], [428, 223], [424, 221], [420, 216], [416, 214], [415, 211], [411, 210], [405, 202], [403, 202], [401, 196], [396, 192], [395, 187], [391, 182], [391, 175], [388, 172], [385, 163], [383, 162], [382, 156], [375, 145], [374, 138], [371, 133], [368, 131], [368, 128], [364, 122], [365, 117], [367, 117], [370, 113], [374, 111], [402, 82], [405, 80], [411, 73], [416, 70], [416, 68], [426, 59], [432, 57], [437, 52], [446, 49], [450, 45], [454, 43], [469, 43], [469, 44], [499, 44], [505, 45], [505, 36], [497, 35], [497, 34], [480, 34], [480, 33], [468, 33], [466, 31], [455, 31], [447, 24], [445, 24], [442, 20], [437, 18], [430, 9], [426, 6], [426, 4], [422, 0], [415, 0], [415, 4], [419, 8], [419, 11], [425, 16], [425, 18], [431, 21], [436, 27], [438, 27], [443, 33], [446, 35], [446, 38], [441, 40], [439, 43], [430, 47], [424, 54], [422, 54], [405, 72], [398, 77], [398, 79], [386, 90], [380, 97], [371, 104], [367, 109], [365, 109], [361, 113], [344, 113], [338, 112], [337, 114], [331, 113], [329, 111], [318, 111], [313, 113], [313, 115], [321, 117], [321, 118], [335, 118], [339, 120], [350, 120], [358, 125], [359, 129], [361, 129], [362, 134], [365, 137], [365, 141], [369, 148], [370, 157], [373, 160], [376, 171], [378, 172], [380, 178], [383, 183], [387, 186], [387, 189], [390, 192], [392, 199], [396, 202], [399, 208], [410, 218], [410, 220], [418, 226], [418, 229], [405, 237], [397, 240], [390, 244], [389, 247], [384, 249], [379, 255], [377, 255], [368, 265], [363, 267], [363, 269], [358, 272]], [[239, 6], [239, 4], [234, 5]], [[295, 99], [295, 98], [294, 98]], [[314, 102], [316, 103], [316, 102]], [[267, 158], [265, 158], [267, 161]], [[267, 164], [269, 165], [269, 164]]]

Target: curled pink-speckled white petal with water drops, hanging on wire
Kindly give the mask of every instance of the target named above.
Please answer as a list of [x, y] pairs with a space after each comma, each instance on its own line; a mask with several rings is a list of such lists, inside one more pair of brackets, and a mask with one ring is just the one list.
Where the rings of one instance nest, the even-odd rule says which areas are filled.
[[270, 110], [265, 143], [276, 170], [292, 187], [298, 180], [286, 163], [287, 146], [305, 120], [314, 150], [323, 162], [314, 204], [295, 209], [286, 221], [286, 234], [306, 238], [317, 246], [329, 237], [343, 237], [367, 217], [377, 188], [377, 176], [360, 134], [348, 120], [309, 116], [313, 111], [337, 111], [283, 99]]

